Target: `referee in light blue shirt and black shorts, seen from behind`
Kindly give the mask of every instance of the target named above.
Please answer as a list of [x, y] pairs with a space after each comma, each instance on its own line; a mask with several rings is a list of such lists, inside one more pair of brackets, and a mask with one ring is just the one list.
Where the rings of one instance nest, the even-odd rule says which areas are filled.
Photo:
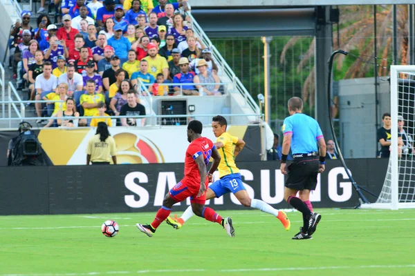
[[[302, 114], [303, 103], [299, 97], [288, 100], [288, 112], [282, 132], [281, 172], [288, 175], [284, 199], [303, 215], [303, 227], [293, 239], [312, 239], [321, 215], [313, 213], [308, 206], [310, 191], [317, 186], [317, 174], [324, 171], [326, 162], [326, 143], [322, 130], [315, 119]], [[317, 154], [317, 144], [320, 147], [320, 160]], [[293, 161], [287, 168], [287, 155], [293, 152]], [[299, 191], [299, 197], [296, 197]], [[305, 202], [308, 203], [308, 206]], [[312, 208], [312, 207], [311, 207]]]

